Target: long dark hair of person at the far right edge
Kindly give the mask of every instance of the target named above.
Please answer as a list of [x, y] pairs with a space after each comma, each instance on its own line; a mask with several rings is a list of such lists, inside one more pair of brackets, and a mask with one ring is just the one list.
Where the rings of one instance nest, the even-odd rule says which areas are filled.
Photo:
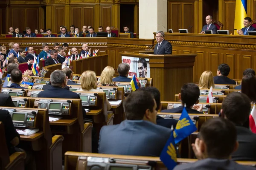
[[249, 73], [242, 79], [242, 93], [246, 94], [252, 102], [256, 102], [256, 77]]

